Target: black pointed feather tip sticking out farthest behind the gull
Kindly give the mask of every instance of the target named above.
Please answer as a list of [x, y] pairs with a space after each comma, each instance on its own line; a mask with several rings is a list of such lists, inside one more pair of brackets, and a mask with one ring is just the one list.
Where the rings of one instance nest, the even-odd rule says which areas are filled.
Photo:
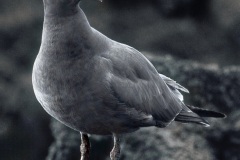
[[187, 105], [187, 107], [201, 117], [214, 117], [214, 118], [225, 118], [226, 117], [226, 115], [223, 113], [210, 111], [210, 110], [206, 110], [206, 109], [201, 109], [201, 108], [189, 106], [189, 105]]

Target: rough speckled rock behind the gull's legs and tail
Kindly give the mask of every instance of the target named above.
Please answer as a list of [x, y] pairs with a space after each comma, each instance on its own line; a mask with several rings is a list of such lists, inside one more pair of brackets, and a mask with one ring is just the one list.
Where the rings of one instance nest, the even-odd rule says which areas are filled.
[[[148, 58], [163, 73], [190, 90], [185, 102], [222, 111], [226, 119], [209, 119], [211, 127], [172, 123], [164, 129], [150, 127], [122, 137], [122, 160], [235, 160], [240, 157], [240, 68], [179, 61], [171, 56]], [[55, 142], [47, 160], [79, 156], [80, 136], [53, 120]], [[109, 159], [111, 137], [92, 136], [91, 159]]]

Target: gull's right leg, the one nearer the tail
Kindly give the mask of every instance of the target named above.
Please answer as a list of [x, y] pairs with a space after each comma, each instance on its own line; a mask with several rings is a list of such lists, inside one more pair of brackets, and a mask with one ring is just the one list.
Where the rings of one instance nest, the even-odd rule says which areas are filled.
[[111, 160], [119, 160], [120, 159], [120, 138], [118, 135], [113, 134], [114, 146], [110, 153]]

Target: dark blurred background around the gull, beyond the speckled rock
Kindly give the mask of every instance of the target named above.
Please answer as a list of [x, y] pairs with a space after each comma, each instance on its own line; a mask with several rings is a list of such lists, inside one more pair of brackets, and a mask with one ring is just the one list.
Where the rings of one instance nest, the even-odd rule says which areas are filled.
[[[94, 28], [156, 58], [240, 67], [239, 0], [82, 0], [81, 7]], [[42, 23], [42, 0], [0, 0], [0, 160], [43, 160], [56, 141], [31, 84]], [[231, 115], [235, 107], [222, 111]], [[225, 135], [227, 145], [207, 141], [220, 148], [208, 159], [239, 160], [239, 130], [240, 123]]]

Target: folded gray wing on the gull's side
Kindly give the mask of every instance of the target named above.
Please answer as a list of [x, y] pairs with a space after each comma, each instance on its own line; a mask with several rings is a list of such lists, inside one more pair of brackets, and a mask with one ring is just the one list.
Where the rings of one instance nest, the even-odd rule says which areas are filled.
[[182, 110], [182, 104], [154, 66], [138, 51], [125, 46], [114, 48], [107, 56], [112, 61], [109, 83], [118, 101], [154, 119], [170, 123]]

